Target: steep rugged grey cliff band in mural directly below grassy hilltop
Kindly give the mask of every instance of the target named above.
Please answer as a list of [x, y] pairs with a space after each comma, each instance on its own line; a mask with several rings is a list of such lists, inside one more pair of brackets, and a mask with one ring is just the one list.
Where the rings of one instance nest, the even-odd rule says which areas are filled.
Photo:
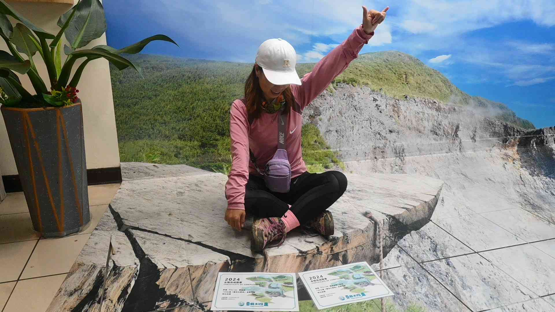
[[437, 100], [392, 99], [369, 88], [342, 84], [307, 107], [305, 122], [316, 124], [342, 160], [399, 158], [471, 152], [526, 133], [483, 110]]

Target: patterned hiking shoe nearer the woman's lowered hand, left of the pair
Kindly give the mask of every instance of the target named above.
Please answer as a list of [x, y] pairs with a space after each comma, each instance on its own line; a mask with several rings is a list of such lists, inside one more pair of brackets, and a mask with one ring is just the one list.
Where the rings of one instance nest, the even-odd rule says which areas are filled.
[[262, 251], [270, 241], [281, 239], [278, 246], [283, 244], [285, 240], [285, 224], [281, 218], [264, 218], [254, 220], [253, 238], [250, 241], [250, 247], [254, 251]]

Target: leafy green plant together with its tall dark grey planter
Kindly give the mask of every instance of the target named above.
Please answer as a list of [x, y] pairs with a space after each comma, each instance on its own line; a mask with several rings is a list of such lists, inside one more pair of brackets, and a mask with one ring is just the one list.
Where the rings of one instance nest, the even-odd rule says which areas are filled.
[[[123, 49], [79, 49], [106, 31], [99, 0], [79, 1], [60, 16], [58, 26], [56, 35], [48, 33], [0, 0], [0, 36], [9, 49], [0, 51], [0, 110], [33, 228], [43, 236], [77, 232], [90, 220], [82, 103], [77, 96], [85, 66], [104, 58], [120, 70], [132, 67], [140, 73], [139, 66], [121, 54], [138, 53], [154, 40], [176, 44], [158, 34]], [[62, 36], [70, 46], [62, 48]], [[49, 85], [33, 62], [37, 53], [46, 64]], [[82, 63], [72, 74], [78, 60]], [[34, 92], [22, 86], [16, 73], [27, 74]]]

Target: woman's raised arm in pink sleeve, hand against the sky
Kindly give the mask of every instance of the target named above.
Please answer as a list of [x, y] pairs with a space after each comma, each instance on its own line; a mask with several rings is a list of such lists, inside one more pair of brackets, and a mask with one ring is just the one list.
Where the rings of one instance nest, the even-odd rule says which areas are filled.
[[292, 85], [293, 93], [301, 109], [310, 104], [339, 74], [345, 71], [358, 54], [364, 44], [374, 36], [374, 29], [384, 21], [389, 7], [384, 11], [368, 11], [362, 7], [362, 24], [357, 27], [344, 42], [335, 47], [320, 60], [312, 72], [302, 77], [302, 85]]

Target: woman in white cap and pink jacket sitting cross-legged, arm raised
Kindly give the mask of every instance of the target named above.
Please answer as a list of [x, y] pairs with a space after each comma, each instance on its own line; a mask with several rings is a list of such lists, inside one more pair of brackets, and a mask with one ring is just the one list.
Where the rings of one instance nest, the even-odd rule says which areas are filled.
[[334, 234], [334, 219], [326, 210], [347, 188], [337, 171], [309, 173], [302, 160], [302, 111], [347, 68], [374, 30], [382, 12], [363, 8], [362, 25], [299, 79], [295, 49], [282, 39], [269, 39], [258, 49], [245, 83], [245, 98], [231, 105], [233, 161], [225, 195], [226, 222], [236, 230], [245, 212], [257, 219], [251, 248], [263, 250], [270, 241], [284, 241], [300, 225], [321, 235]]

